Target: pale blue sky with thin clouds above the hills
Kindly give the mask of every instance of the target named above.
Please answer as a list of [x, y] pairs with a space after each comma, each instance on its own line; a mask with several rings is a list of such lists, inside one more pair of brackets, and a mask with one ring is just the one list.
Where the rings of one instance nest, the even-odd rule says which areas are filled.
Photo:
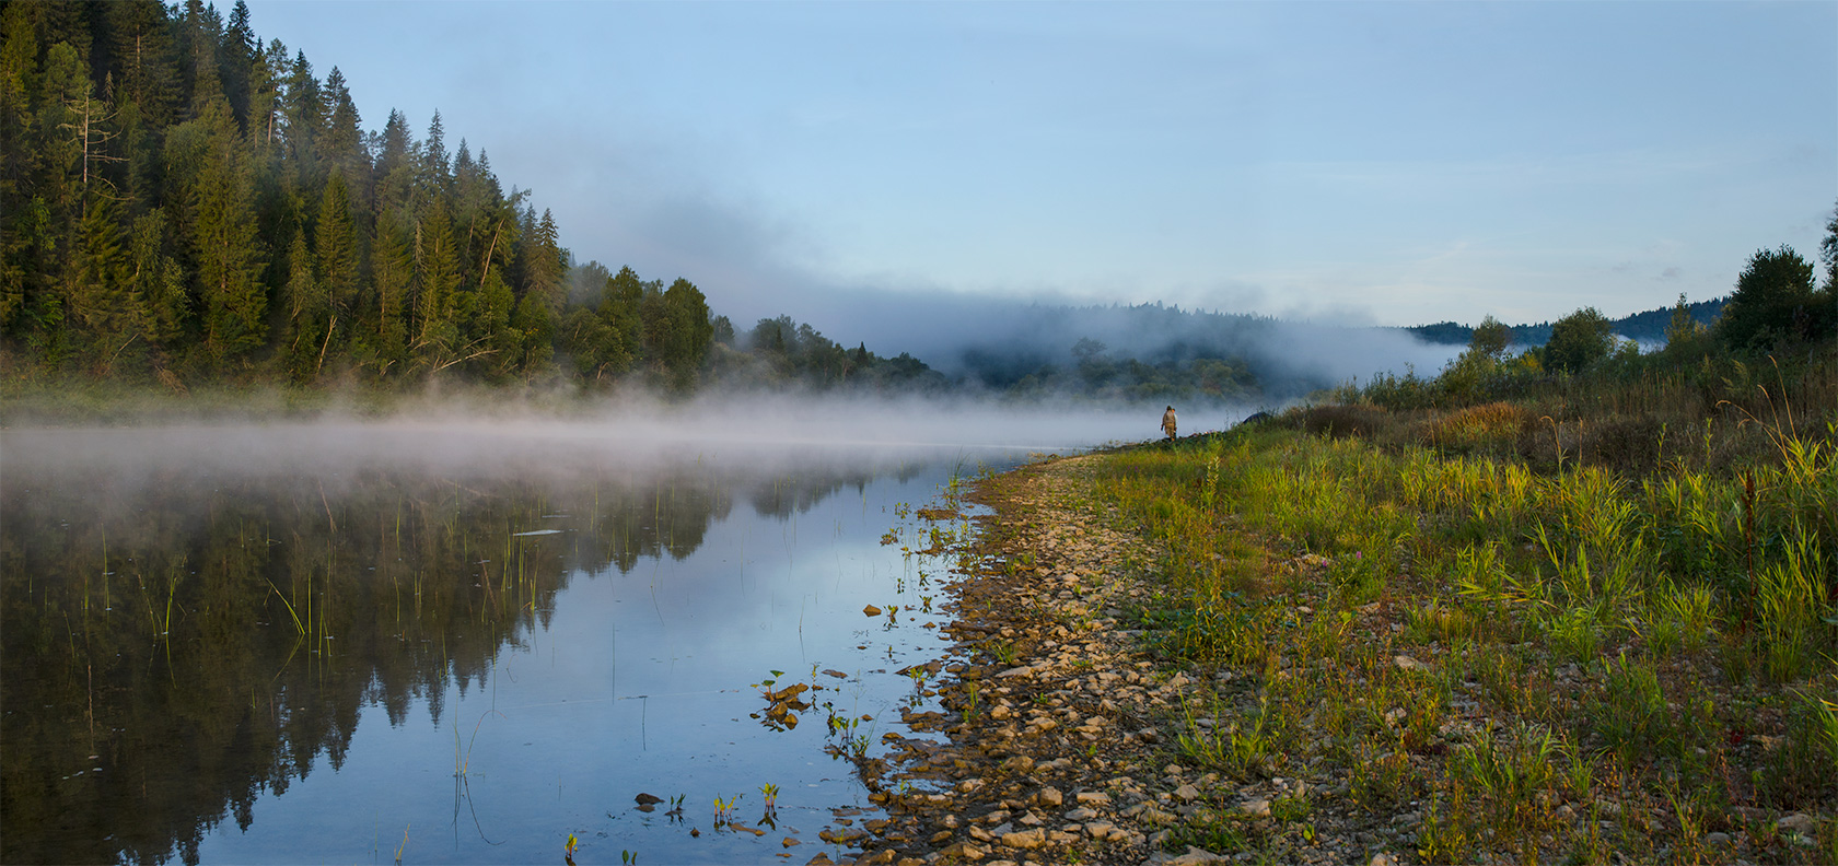
[[845, 342], [882, 294], [1619, 316], [1816, 256], [1838, 200], [1831, 2], [250, 9], [583, 261]]

